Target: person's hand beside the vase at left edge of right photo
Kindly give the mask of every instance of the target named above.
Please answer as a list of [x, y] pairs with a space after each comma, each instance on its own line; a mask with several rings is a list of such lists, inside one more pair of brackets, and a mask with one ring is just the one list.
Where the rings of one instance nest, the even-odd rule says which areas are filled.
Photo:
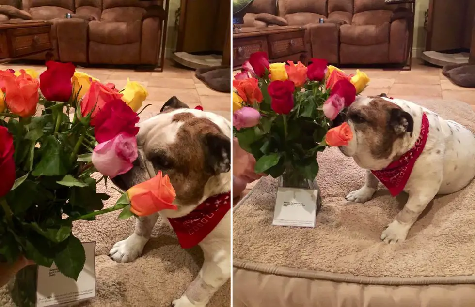
[[237, 138], [233, 138], [233, 175], [241, 180], [251, 183], [266, 174], [256, 174], [254, 156], [239, 146]]

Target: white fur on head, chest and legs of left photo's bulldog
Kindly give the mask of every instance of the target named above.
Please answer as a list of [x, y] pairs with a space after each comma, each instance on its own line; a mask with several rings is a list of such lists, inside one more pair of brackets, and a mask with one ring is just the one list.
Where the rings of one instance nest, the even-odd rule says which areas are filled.
[[[178, 129], [172, 123], [172, 117], [177, 113], [189, 112], [196, 117], [206, 117], [214, 122], [222, 132], [231, 137], [231, 123], [224, 117], [210, 112], [194, 109], [177, 109], [169, 113], [162, 113], [140, 124], [138, 137], [146, 138], [164, 137], [165, 140], [174, 139]], [[153, 144], [153, 142], [151, 142]], [[171, 144], [171, 143], [167, 143]], [[143, 146], [144, 144], [138, 144]], [[229, 158], [229, 157], [228, 157]], [[225, 193], [231, 190], [230, 172], [211, 177], [205, 184], [204, 196], [194, 206], [178, 206], [179, 210], [162, 210], [159, 212], [162, 220], [168, 223], [166, 218], [182, 217], [194, 210], [200, 203], [212, 195]], [[229, 200], [231, 202], [231, 199]], [[136, 259], [143, 251], [143, 247], [150, 239], [152, 229], [158, 215], [152, 215], [137, 219], [135, 233], [127, 239], [117, 242], [110, 251], [110, 256], [117, 262], [129, 262]], [[205, 307], [213, 294], [231, 276], [231, 210], [224, 216], [216, 228], [208, 234], [199, 244], [203, 249], [204, 263], [198, 276], [190, 284], [183, 295], [172, 302], [174, 307]]]

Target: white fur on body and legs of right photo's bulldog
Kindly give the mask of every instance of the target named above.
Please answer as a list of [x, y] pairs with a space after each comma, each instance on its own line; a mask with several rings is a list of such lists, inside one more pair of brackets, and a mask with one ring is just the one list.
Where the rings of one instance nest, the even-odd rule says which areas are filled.
[[[404, 188], [409, 199], [396, 219], [381, 234], [386, 243], [402, 242], [406, 239], [409, 229], [428, 203], [437, 194], [456, 192], [475, 177], [475, 136], [462, 125], [444, 120], [432, 111], [413, 102], [401, 99], [386, 99], [396, 103], [414, 119], [414, 131], [396, 144], [388, 159], [376, 160], [368, 151], [358, 147], [358, 138], [364, 137], [356, 132], [351, 122], [354, 138], [342, 151], [355, 159], [356, 163], [367, 169], [366, 182], [363, 188], [347, 195], [347, 199], [365, 202], [373, 196], [378, 180], [369, 170], [380, 170], [389, 165], [395, 157], [407, 152], [420, 135], [422, 115], [426, 113], [429, 120], [429, 135], [423, 152], [415, 162], [412, 173]], [[369, 98], [360, 98], [355, 103], [367, 104]], [[453, 133], [452, 133], [453, 132]]]

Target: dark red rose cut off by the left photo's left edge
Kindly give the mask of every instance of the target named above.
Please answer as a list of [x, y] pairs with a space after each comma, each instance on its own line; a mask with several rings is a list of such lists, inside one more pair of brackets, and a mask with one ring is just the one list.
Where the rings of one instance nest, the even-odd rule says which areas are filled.
[[0, 197], [5, 196], [15, 183], [13, 151], [12, 135], [7, 128], [0, 126]]

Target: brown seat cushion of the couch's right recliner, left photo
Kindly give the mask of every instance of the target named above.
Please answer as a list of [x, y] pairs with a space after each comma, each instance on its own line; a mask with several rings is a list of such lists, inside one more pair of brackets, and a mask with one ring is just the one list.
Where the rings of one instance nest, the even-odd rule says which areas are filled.
[[89, 40], [111, 45], [140, 42], [141, 24], [141, 20], [134, 22], [91, 21], [89, 23]]

